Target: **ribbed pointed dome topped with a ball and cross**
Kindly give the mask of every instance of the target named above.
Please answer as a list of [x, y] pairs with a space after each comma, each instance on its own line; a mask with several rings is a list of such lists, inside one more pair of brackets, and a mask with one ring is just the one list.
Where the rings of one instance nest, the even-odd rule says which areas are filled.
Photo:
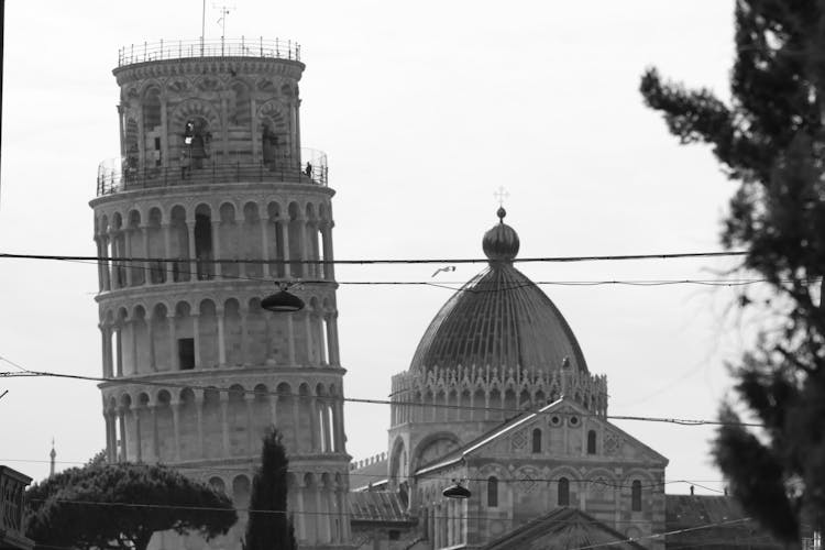
[[468, 282], [432, 319], [410, 370], [495, 366], [556, 371], [564, 359], [587, 372], [579, 342], [556, 305], [513, 266], [516, 231], [499, 223], [484, 235], [490, 266]]

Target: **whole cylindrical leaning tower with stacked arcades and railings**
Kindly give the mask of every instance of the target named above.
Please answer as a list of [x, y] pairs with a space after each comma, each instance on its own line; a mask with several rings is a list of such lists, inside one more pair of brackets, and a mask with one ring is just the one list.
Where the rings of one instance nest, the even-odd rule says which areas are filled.
[[[121, 156], [90, 202], [111, 258], [100, 387], [108, 460], [176, 466], [239, 508], [274, 424], [301, 548], [349, 548], [337, 284], [312, 263], [333, 257], [334, 191], [326, 155], [301, 147], [304, 68], [277, 40], [121, 50]], [[306, 307], [263, 310], [277, 282], [298, 283]], [[221, 547], [240, 548], [242, 524]]]

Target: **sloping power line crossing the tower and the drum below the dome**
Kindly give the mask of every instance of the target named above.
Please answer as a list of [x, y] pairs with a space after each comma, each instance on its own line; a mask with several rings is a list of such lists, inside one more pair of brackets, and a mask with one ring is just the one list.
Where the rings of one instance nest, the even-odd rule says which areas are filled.
[[[0, 360], [9, 362], [6, 358], [0, 356]], [[15, 366], [20, 367], [19, 365], [14, 364]], [[388, 399], [369, 399], [369, 398], [361, 398], [361, 397], [342, 397], [342, 396], [311, 396], [311, 395], [301, 395], [301, 394], [295, 394], [292, 392], [271, 392], [268, 389], [262, 391], [262, 389], [246, 389], [242, 387], [217, 387], [217, 386], [200, 386], [196, 384], [184, 384], [184, 383], [176, 383], [176, 382], [156, 382], [156, 381], [150, 381], [150, 380], [122, 380], [122, 378], [110, 378], [106, 376], [86, 376], [81, 374], [63, 374], [63, 373], [53, 373], [53, 372], [46, 372], [46, 371], [29, 371], [25, 370], [25, 372], [0, 372], [0, 378], [13, 378], [13, 377], [55, 377], [55, 378], [69, 378], [69, 380], [80, 380], [80, 381], [87, 381], [87, 382], [107, 382], [107, 383], [116, 383], [116, 384], [142, 384], [147, 386], [157, 386], [157, 387], [177, 387], [177, 388], [188, 388], [188, 389], [202, 389], [202, 391], [210, 391], [210, 392], [224, 392], [229, 394], [244, 394], [244, 395], [253, 395], [253, 396], [275, 396], [275, 397], [296, 397], [296, 398], [317, 398], [320, 400], [326, 402], [345, 402], [345, 403], [359, 403], [359, 404], [367, 404], [367, 405], [395, 405], [395, 406], [410, 406], [410, 407], [429, 407], [429, 408], [447, 408], [447, 409], [459, 409], [459, 410], [488, 410], [488, 411], [498, 411], [498, 413], [514, 413], [514, 414], [524, 414], [524, 413], [537, 413], [536, 410], [526, 410], [526, 409], [519, 409], [519, 408], [493, 408], [493, 407], [479, 407], [479, 406], [468, 406], [468, 405], [450, 405], [450, 404], [439, 404], [439, 403], [416, 403], [416, 402], [406, 402], [406, 400], [388, 400]], [[721, 420], [707, 420], [707, 419], [686, 419], [686, 418], [664, 418], [664, 417], [648, 417], [648, 416], [631, 416], [631, 415], [597, 415], [595, 413], [560, 413], [560, 411], [552, 411], [552, 413], [546, 413], [546, 414], [552, 414], [552, 415], [560, 415], [560, 416], [581, 416], [581, 417], [593, 417], [593, 418], [605, 418], [607, 420], [632, 420], [632, 421], [647, 421], [647, 422], [664, 422], [664, 424], [673, 424], [679, 426], [743, 426], [743, 427], [755, 427], [755, 428], [761, 428], [763, 425], [756, 424], [756, 422], [726, 422]]]

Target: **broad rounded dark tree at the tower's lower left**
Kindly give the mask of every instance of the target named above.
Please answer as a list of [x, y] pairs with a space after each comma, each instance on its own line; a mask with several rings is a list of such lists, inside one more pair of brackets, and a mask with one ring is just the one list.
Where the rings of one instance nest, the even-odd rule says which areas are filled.
[[145, 550], [157, 531], [224, 535], [238, 520], [228, 496], [162, 465], [90, 463], [26, 492], [26, 536], [37, 544]]

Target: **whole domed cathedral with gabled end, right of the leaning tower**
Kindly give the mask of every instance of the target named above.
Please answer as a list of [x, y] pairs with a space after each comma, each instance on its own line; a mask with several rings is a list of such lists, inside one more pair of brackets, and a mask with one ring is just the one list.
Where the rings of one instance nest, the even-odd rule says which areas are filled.
[[[483, 238], [487, 268], [392, 380], [386, 455], [352, 477], [384, 469], [361, 491], [397, 495], [417, 518], [398, 548], [663, 548], [649, 536], [664, 531], [668, 460], [607, 420], [606, 377], [590, 373], [564, 317], [513, 266], [519, 239], [505, 215]], [[444, 496], [453, 483], [471, 496]]]

